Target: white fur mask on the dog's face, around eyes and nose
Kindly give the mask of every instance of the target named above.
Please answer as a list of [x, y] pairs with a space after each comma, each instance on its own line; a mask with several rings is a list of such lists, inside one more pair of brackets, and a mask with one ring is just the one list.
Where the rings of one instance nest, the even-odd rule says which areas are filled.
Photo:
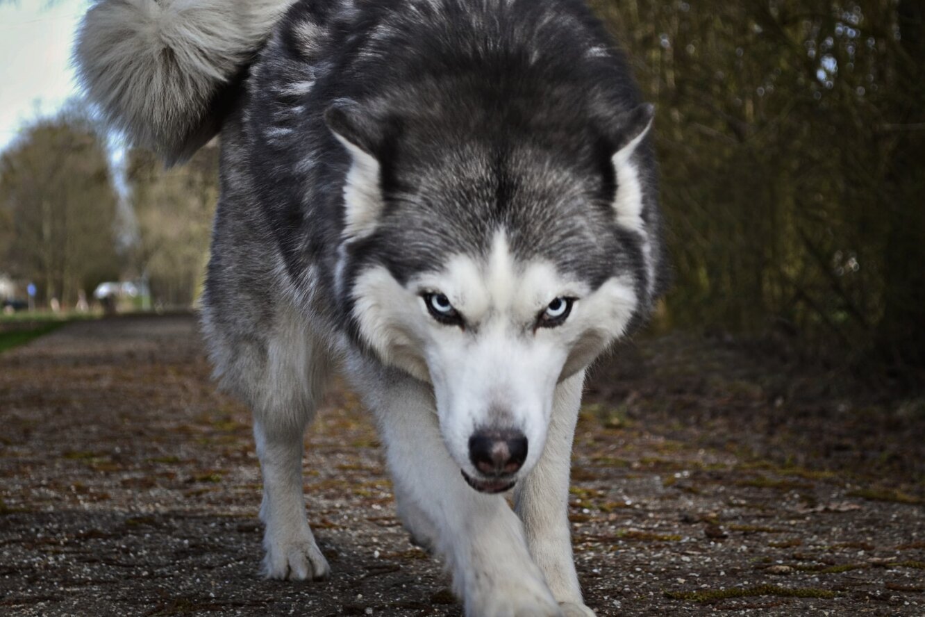
[[[443, 293], [465, 327], [429, 315], [424, 293]], [[469, 438], [480, 428], [513, 428], [528, 442], [522, 473], [546, 441], [556, 384], [591, 362], [623, 334], [636, 296], [628, 278], [591, 291], [548, 262], [516, 263], [502, 233], [486, 262], [466, 255], [401, 286], [384, 267], [354, 286], [354, 315], [385, 364], [434, 386], [440, 431], [450, 454], [469, 475]], [[555, 298], [577, 298], [558, 327], [536, 327]]]

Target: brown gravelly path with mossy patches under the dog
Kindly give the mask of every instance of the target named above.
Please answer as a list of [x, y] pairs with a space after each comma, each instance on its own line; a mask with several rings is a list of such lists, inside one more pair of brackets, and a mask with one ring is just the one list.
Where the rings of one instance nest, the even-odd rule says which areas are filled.
[[[922, 416], [910, 433], [788, 415], [767, 384], [701, 382], [735, 358], [685, 372], [670, 350], [605, 364], [579, 424], [571, 517], [598, 615], [925, 615]], [[256, 575], [249, 414], [216, 395], [190, 316], [75, 323], [3, 354], [0, 426], [0, 614], [461, 614], [343, 391], [305, 462], [333, 577]], [[880, 454], [813, 445], [829, 441]]]

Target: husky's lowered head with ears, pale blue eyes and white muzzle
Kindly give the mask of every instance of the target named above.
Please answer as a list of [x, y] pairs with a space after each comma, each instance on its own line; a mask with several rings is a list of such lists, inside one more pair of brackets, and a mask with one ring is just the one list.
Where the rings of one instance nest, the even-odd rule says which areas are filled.
[[383, 363], [433, 385], [447, 449], [480, 491], [536, 464], [556, 385], [652, 302], [651, 118], [650, 105], [517, 128], [327, 111], [351, 155], [345, 312]]

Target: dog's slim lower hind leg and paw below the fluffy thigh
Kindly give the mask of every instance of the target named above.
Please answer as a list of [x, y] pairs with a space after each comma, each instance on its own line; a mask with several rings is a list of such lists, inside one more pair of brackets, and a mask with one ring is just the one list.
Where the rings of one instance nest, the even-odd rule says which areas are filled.
[[264, 574], [268, 578], [327, 578], [330, 568], [314, 541], [302, 494], [302, 436], [305, 422], [278, 426], [254, 417], [264, 500], [260, 519], [264, 534]]

